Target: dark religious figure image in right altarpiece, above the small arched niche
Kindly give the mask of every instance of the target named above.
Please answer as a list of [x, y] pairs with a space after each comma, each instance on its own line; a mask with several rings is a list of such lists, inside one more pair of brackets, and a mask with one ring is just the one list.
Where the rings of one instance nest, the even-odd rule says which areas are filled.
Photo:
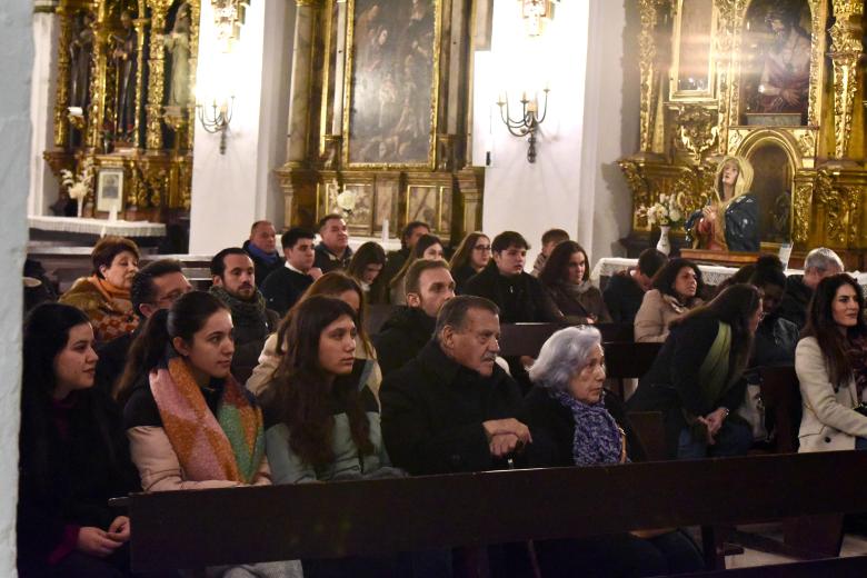
[[807, 123], [810, 22], [807, 0], [754, 0], [750, 4], [741, 51], [747, 124]]

